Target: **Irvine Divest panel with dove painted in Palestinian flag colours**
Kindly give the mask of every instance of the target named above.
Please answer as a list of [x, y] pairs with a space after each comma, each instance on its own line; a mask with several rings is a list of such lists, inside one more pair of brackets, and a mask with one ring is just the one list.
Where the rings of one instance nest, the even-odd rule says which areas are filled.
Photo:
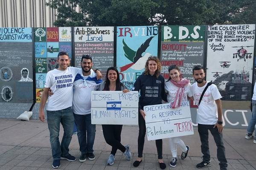
[[116, 67], [120, 81], [132, 89], [150, 56], [157, 56], [158, 26], [120, 26], [116, 33]]

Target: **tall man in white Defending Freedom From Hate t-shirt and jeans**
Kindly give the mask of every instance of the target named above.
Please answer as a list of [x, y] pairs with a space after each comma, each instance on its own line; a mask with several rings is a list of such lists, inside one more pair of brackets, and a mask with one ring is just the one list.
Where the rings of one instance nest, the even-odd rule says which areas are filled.
[[[73, 98], [73, 82], [77, 72], [75, 67], [68, 67], [70, 59], [66, 52], [58, 53], [58, 68], [49, 71], [45, 80], [45, 87], [41, 96], [39, 108], [39, 119], [44, 122], [44, 106], [47, 102], [47, 124], [50, 132], [50, 143], [52, 147], [53, 168], [60, 167], [60, 159], [75, 161], [76, 158], [69, 154], [69, 144], [72, 139], [74, 116], [71, 109]], [[48, 96], [51, 88], [54, 95]], [[59, 142], [60, 123], [64, 134]]]

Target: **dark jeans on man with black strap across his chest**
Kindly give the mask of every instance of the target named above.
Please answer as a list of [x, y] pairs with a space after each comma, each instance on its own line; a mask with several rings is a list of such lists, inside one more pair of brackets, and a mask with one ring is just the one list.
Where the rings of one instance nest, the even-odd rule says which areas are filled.
[[198, 133], [201, 140], [201, 152], [203, 153], [203, 161], [210, 161], [209, 142], [208, 142], [208, 130], [212, 133], [213, 139], [217, 146], [217, 158], [220, 161], [219, 165], [221, 170], [227, 170], [227, 159], [225, 156], [225, 147], [223, 143], [222, 133], [218, 133], [218, 128], [213, 128], [214, 125], [202, 125], [198, 124]]

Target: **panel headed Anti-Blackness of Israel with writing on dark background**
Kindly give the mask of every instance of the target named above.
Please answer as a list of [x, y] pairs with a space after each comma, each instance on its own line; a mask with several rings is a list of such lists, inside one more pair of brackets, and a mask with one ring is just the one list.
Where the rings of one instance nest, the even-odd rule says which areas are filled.
[[104, 80], [114, 64], [114, 27], [75, 27], [74, 41], [75, 67], [81, 68], [82, 55], [89, 54]]

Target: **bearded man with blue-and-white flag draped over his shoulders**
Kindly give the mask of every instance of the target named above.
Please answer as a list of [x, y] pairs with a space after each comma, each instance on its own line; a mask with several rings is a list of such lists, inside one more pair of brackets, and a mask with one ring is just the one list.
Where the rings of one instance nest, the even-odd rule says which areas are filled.
[[91, 123], [91, 91], [96, 91], [102, 79], [96, 78], [96, 73], [91, 69], [92, 57], [83, 55], [81, 68], [76, 74], [74, 81], [73, 113], [77, 127], [77, 137], [81, 156], [80, 162], [86, 157], [94, 160], [93, 144], [95, 139], [96, 125]]

